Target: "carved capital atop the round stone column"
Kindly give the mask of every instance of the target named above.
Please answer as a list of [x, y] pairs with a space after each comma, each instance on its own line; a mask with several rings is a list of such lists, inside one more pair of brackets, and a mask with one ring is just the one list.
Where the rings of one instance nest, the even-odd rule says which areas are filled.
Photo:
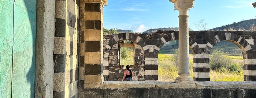
[[194, 7], [194, 0], [169, 0], [174, 3], [174, 10], [190, 9]]

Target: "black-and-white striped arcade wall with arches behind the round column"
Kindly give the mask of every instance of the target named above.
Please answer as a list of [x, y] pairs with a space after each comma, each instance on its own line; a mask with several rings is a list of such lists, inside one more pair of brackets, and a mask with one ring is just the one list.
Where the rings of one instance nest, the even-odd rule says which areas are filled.
[[[194, 81], [209, 81], [209, 53], [212, 47], [220, 41], [230, 41], [236, 44], [244, 57], [244, 80], [256, 81], [256, 39], [255, 31], [189, 31], [189, 47], [194, 55]], [[104, 58], [116, 42], [129, 39], [136, 42], [144, 53], [144, 79], [158, 80], [158, 53], [168, 41], [178, 40], [178, 31], [157, 31], [151, 34], [120, 33], [105, 35]], [[135, 54], [137, 55], [137, 54]], [[115, 60], [110, 57], [111, 60]], [[107, 60], [104, 60], [106, 62]], [[108, 66], [104, 63], [104, 66]], [[136, 65], [136, 64], [135, 64]], [[105, 74], [106, 75], [106, 74]]]

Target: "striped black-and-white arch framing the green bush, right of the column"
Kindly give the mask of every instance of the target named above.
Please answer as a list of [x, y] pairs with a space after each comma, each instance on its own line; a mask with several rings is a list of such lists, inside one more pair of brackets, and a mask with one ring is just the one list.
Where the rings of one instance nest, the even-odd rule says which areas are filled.
[[[211, 52], [211, 49], [214, 45], [216, 45], [220, 41], [230, 41], [233, 42], [235, 45], [237, 45], [243, 54], [244, 57], [244, 80], [248, 79], [251, 75], [246, 70], [245, 67], [248, 66], [248, 64], [252, 64], [248, 58], [248, 52], [252, 49], [251, 45], [253, 45], [253, 40], [251, 44], [248, 42], [250, 39], [245, 39], [241, 37], [241, 35], [237, 35], [234, 33], [220, 33], [218, 35], [205, 35], [207, 36], [206, 41], [204, 44], [201, 44], [200, 42], [191, 41], [194, 42], [190, 47], [194, 51], [194, 58], [193, 58], [193, 71], [194, 71], [194, 81], [209, 81], [209, 54]], [[197, 39], [193, 39], [197, 40]], [[200, 44], [198, 44], [200, 43]], [[247, 61], [247, 62], [246, 62]], [[250, 62], [250, 63], [249, 63]], [[247, 73], [246, 73], [247, 72]]]

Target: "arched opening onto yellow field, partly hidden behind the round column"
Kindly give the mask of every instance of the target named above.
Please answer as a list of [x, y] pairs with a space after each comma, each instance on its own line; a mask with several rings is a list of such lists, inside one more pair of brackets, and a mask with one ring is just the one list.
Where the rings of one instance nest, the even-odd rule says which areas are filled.
[[[178, 77], [178, 46], [179, 41], [166, 42], [158, 54], [158, 81], [174, 82]], [[189, 50], [189, 71], [193, 78], [193, 54]]]

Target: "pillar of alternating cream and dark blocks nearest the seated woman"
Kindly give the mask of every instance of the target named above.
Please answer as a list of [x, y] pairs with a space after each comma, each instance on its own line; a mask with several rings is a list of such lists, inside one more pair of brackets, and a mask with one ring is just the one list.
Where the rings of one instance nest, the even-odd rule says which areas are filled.
[[78, 96], [100, 88], [103, 78], [103, 6], [107, 0], [80, 0]]

